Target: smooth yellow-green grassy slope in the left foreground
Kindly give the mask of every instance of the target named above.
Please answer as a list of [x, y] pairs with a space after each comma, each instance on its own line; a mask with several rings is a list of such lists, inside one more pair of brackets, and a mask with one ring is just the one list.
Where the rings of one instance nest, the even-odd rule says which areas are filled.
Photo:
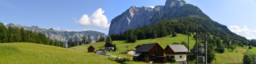
[[36, 43], [0, 43], [0, 64], [118, 64], [108, 57]]

